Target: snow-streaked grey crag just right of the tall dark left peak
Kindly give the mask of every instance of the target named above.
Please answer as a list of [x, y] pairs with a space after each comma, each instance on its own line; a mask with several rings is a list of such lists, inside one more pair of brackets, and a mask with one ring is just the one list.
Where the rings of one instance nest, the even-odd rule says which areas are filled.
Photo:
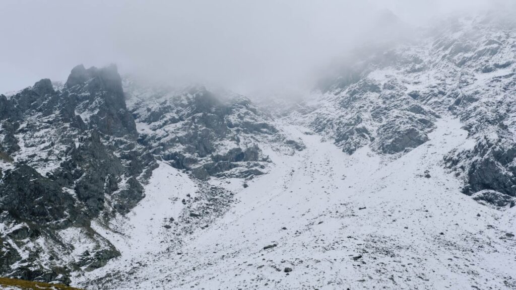
[[131, 79], [125, 84], [128, 107], [142, 129], [140, 142], [197, 179], [264, 174], [270, 163], [261, 149], [265, 143], [288, 154], [303, 148], [244, 96], [202, 86], [156, 90]]

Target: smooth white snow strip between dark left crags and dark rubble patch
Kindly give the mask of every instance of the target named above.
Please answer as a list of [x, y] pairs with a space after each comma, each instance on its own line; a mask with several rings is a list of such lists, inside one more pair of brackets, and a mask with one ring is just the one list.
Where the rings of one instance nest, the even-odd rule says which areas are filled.
[[104, 268], [116, 267], [120, 265], [120, 260], [144, 261], [149, 256], [165, 251], [168, 245], [163, 243], [163, 238], [170, 240], [173, 236], [163, 225], [171, 217], [178, 218], [182, 208], [180, 197], [185, 192], [194, 195], [195, 191], [196, 184], [187, 174], [165, 163], [159, 163], [146, 186], [146, 196], [131, 213], [117, 216], [109, 225], [100, 220], [92, 222], [92, 228], [106, 237], [122, 254], [121, 259], [111, 261]]

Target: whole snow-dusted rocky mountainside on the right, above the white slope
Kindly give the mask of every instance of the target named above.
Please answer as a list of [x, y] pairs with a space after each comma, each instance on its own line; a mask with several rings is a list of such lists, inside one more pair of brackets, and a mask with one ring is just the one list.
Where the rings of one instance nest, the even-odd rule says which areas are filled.
[[397, 158], [426, 142], [437, 119], [455, 116], [469, 136], [445, 162], [464, 194], [501, 210], [514, 206], [514, 20], [462, 17], [422, 34], [394, 49], [357, 54], [289, 118], [346, 153], [369, 146]]

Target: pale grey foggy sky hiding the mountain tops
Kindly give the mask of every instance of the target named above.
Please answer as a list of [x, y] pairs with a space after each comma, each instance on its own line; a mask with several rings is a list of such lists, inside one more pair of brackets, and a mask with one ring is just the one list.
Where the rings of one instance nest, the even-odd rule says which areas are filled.
[[363, 39], [379, 14], [421, 24], [492, 0], [0, 0], [0, 92], [79, 63], [174, 82], [290, 82]]

